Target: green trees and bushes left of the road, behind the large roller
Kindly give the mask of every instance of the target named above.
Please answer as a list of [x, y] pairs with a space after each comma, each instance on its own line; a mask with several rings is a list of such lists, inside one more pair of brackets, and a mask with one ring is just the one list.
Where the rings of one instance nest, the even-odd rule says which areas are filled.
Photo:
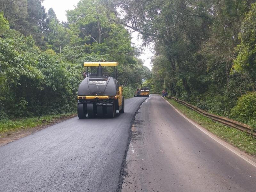
[[84, 61], [117, 61], [127, 97], [150, 71], [131, 36], [101, 1], [81, 0], [60, 23], [42, 0], [0, 2], [0, 119], [76, 109]]

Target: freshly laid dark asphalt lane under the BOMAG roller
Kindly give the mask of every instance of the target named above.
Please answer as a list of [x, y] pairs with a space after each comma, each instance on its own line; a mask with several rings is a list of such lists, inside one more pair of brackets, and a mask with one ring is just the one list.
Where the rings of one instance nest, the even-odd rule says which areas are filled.
[[145, 98], [114, 119], [74, 117], [0, 147], [0, 191], [115, 192], [131, 121]]

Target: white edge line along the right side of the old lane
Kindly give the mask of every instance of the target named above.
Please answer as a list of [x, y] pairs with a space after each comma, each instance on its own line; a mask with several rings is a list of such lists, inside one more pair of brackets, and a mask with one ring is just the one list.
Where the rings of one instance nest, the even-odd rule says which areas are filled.
[[[161, 97], [161, 96], [160, 96]], [[165, 100], [163, 97], [161, 97], [163, 100]], [[198, 128], [200, 131], [204, 132], [207, 136], [215, 140], [216, 142], [220, 143], [223, 147], [227, 148], [228, 150], [232, 151], [237, 156], [244, 159], [247, 163], [251, 164], [252, 166], [256, 167], [256, 163], [252, 161], [251, 159], [247, 158], [244, 154], [244, 152], [240, 151], [239, 149], [234, 149], [230, 144], [226, 143], [223, 140], [220, 140], [218, 137], [216, 137], [213, 133], [208, 132], [204, 127], [201, 127], [199, 124], [196, 124], [192, 120], [190, 120], [188, 117], [183, 115], [178, 109], [176, 109], [171, 103], [169, 103], [167, 100], [165, 100], [175, 111], [177, 111], [184, 119], [186, 119], [189, 123], [193, 124], [196, 128]]]

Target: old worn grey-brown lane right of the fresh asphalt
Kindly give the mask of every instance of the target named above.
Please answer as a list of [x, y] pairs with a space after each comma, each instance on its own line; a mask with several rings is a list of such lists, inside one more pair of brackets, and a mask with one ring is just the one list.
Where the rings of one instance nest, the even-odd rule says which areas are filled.
[[256, 167], [151, 95], [132, 126], [122, 192], [256, 192]]

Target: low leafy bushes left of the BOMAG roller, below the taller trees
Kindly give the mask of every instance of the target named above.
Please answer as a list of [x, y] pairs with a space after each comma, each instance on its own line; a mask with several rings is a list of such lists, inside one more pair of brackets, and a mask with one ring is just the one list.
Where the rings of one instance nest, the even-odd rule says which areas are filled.
[[81, 65], [40, 51], [31, 36], [12, 29], [5, 34], [0, 39], [1, 117], [74, 110]]

